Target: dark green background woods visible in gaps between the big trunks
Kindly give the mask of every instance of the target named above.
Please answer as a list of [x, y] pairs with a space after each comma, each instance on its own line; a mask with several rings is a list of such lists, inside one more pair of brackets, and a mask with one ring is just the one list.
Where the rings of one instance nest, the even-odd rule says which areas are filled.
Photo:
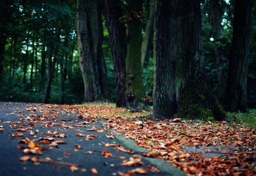
[[[205, 65], [214, 96], [223, 101], [232, 44], [234, 1], [201, 1]], [[121, 1], [124, 14], [125, 1]], [[77, 45], [77, 2], [72, 0], [0, 2], [0, 101], [79, 104], [84, 83]], [[108, 76], [108, 99], [115, 101], [114, 63], [108, 26], [102, 10], [104, 54]], [[144, 95], [152, 97], [154, 84], [152, 13], [154, 3], [143, 1], [142, 35], [148, 45], [142, 56]], [[256, 102], [256, 8], [251, 10], [247, 105]], [[216, 23], [220, 22], [220, 23]], [[143, 48], [142, 43], [142, 48]], [[50, 79], [52, 76], [52, 79]]]

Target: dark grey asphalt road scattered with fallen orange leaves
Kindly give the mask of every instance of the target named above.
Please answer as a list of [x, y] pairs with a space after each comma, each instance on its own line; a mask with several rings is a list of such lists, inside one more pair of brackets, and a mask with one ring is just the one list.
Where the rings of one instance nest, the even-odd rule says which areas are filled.
[[[28, 111], [28, 109], [31, 109], [32, 111]], [[33, 109], [35, 111], [33, 111]], [[76, 127], [73, 125], [86, 120], [77, 118], [78, 114], [69, 113], [63, 109], [58, 109], [58, 111], [56, 111], [55, 109], [56, 107], [46, 107], [46, 105], [43, 104], [0, 102], [0, 127], [2, 126], [5, 128], [3, 132], [0, 132], [0, 175], [96, 175], [92, 173], [92, 168], [97, 170], [97, 175], [119, 175], [118, 171], [127, 172], [135, 168], [147, 168], [148, 166], [152, 166], [152, 164], [147, 160], [144, 160], [144, 158], [142, 158], [144, 165], [121, 166], [123, 160], [129, 160], [129, 157], [133, 157], [138, 153], [135, 152], [130, 154], [117, 151], [114, 147], [105, 147], [105, 144], [108, 143], [118, 145], [119, 141], [117, 139], [107, 138], [106, 135], [112, 134], [105, 130], [104, 132], [86, 131], [93, 126], [104, 129], [102, 124], [92, 122], [89, 125], [86, 125], [86, 127]], [[31, 121], [30, 119], [33, 117], [42, 118], [42, 121]], [[30, 122], [34, 125], [28, 125]], [[49, 125], [46, 125], [47, 123]], [[68, 128], [67, 126], [71, 128]], [[30, 135], [30, 132], [28, 131], [15, 131], [18, 128], [28, 128], [28, 131], [31, 130], [34, 132], [38, 130], [38, 134]], [[54, 137], [55, 140], [63, 140], [67, 142], [67, 144], [59, 144], [57, 148], [52, 147], [43, 150], [43, 154], [40, 156], [25, 154], [22, 152], [22, 149], [18, 149], [18, 145], [23, 147], [28, 146], [28, 144], [18, 143], [21, 139], [29, 138], [30, 140], [35, 140], [35, 143], [40, 144], [38, 140], [39, 138], [52, 138], [52, 135], [44, 134], [44, 132], [47, 131], [57, 131], [60, 134], [67, 135], [65, 138]], [[22, 133], [23, 136], [11, 137], [11, 134], [16, 133]], [[86, 136], [79, 137], [76, 136], [77, 133], [96, 135], [96, 138], [85, 140]], [[48, 146], [48, 144], [40, 145], [43, 147]], [[77, 148], [76, 145], [80, 145], [81, 149]], [[104, 149], [107, 149], [112, 153], [112, 156], [105, 158], [101, 153]], [[19, 158], [23, 156], [36, 156], [37, 160], [49, 157], [56, 162], [34, 163], [32, 161], [20, 161]], [[71, 171], [70, 166], [67, 163], [78, 165], [78, 170]], [[135, 173], [135, 175], [138, 174]], [[164, 171], [161, 171], [160, 173], [148, 171], [146, 175], [172, 174], [167, 174]]]

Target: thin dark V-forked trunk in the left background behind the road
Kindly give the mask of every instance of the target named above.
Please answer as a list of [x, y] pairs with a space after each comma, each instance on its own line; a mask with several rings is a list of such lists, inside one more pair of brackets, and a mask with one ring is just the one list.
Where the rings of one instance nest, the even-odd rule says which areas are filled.
[[55, 68], [55, 63], [57, 61], [57, 54], [58, 49], [55, 49], [55, 54], [52, 61], [52, 48], [49, 48], [49, 55], [48, 55], [48, 78], [47, 78], [47, 88], [46, 88], [46, 96], [44, 97], [44, 103], [48, 104], [51, 98], [51, 86], [52, 86], [52, 78]]

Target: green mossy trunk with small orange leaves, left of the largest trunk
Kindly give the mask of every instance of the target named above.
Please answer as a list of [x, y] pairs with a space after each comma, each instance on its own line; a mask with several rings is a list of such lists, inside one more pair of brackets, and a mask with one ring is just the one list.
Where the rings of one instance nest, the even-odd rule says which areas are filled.
[[128, 44], [126, 56], [126, 101], [127, 108], [138, 108], [143, 97], [141, 45], [142, 45], [142, 0], [129, 0], [127, 17]]

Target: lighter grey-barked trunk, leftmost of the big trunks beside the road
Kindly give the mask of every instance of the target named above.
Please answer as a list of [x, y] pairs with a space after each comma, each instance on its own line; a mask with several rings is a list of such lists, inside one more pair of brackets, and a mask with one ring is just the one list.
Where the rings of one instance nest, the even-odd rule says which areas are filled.
[[77, 0], [77, 6], [77, 38], [80, 54], [79, 65], [84, 80], [84, 101], [94, 101], [98, 98], [98, 94], [92, 65], [92, 35], [88, 16], [88, 1]]

